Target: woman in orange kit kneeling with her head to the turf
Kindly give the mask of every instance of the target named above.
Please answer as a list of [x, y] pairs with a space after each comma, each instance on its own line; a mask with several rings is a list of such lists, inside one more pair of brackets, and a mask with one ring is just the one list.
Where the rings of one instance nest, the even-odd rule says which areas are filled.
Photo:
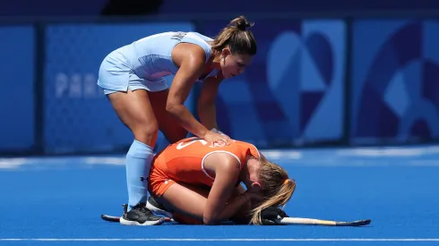
[[246, 221], [262, 225], [261, 211], [285, 205], [295, 189], [287, 172], [254, 145], [237, 140], [228, 146], [211, 145], [198, 138], [180, 140], [160, 152], [152, 162], [149, 183], [154, 199], [182, 222], [204, 225], [242, 219], [243, 212], [249, 212]]

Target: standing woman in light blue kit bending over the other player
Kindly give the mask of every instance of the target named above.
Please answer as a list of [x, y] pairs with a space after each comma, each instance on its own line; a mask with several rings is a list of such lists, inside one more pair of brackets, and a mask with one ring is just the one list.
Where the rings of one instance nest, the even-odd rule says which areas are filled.
[[[171, 142], [187, 131], [208, 142], [228, 144], [216, 131], [215, 98], [220, 81], [245, 71], [256, 54], [252, 25], [240, 16], [216, 38], [197, 32], [164, 32], [142, 38], [107, 55], [99, 68], [98, 85], [134, 135], [126, 154], [128, 213], [123, 225], [160, 225], [162, 218], [145, 207], [151, 159], [162, 131]], [[170, 89], [164, 76], [175, 74]], [[184, 106], [195, 81], [201, 123]]]

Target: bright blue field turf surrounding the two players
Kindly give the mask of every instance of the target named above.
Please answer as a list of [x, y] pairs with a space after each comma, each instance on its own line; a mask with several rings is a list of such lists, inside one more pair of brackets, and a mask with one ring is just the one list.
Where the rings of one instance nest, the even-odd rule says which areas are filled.
[[122, 226], [100, 215], [126, 202], [123, 156], [0, 158], [0, 245], [439, 245], [439, 147], [263, 153], [297, 181], [289, 216], [372, 224]]

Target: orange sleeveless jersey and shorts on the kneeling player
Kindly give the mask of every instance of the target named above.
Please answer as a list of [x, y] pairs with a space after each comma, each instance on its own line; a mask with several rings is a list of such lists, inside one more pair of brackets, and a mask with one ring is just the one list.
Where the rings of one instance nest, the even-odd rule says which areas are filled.
[[[150, 191], [161, 195], [158, 182], [186, 182], [212, 186], [215, 175], [204, 169], [204, 159], [213, 153], [229, 153], [245, 165], [247, 154], [259, 158], [259, 151], [254, 145], [232, 140], [228, 146], [211, 145], [206, 140], [189, 138], [180, 140], [165, 148], [152, 162], [150, 174]], [[156, 186], [156, 187], [155, 187]], [[161, 189], [162, 190], [162, 189]]]

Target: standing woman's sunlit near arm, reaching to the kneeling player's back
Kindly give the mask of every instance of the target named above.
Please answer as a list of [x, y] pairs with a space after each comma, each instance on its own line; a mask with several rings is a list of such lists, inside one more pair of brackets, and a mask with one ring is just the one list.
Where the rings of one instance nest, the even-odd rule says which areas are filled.
[[169, 89], [166, 106], [167, 111], [174, 115], [187, 131], [200, 138], [204, 137], [208, 129], [195, 119], [184, 103], [194, 82], [200, 77], [204, 63], [205, 54], [201, 47], [176, 52], [176, 64], [179, 64], [179, 69]]

